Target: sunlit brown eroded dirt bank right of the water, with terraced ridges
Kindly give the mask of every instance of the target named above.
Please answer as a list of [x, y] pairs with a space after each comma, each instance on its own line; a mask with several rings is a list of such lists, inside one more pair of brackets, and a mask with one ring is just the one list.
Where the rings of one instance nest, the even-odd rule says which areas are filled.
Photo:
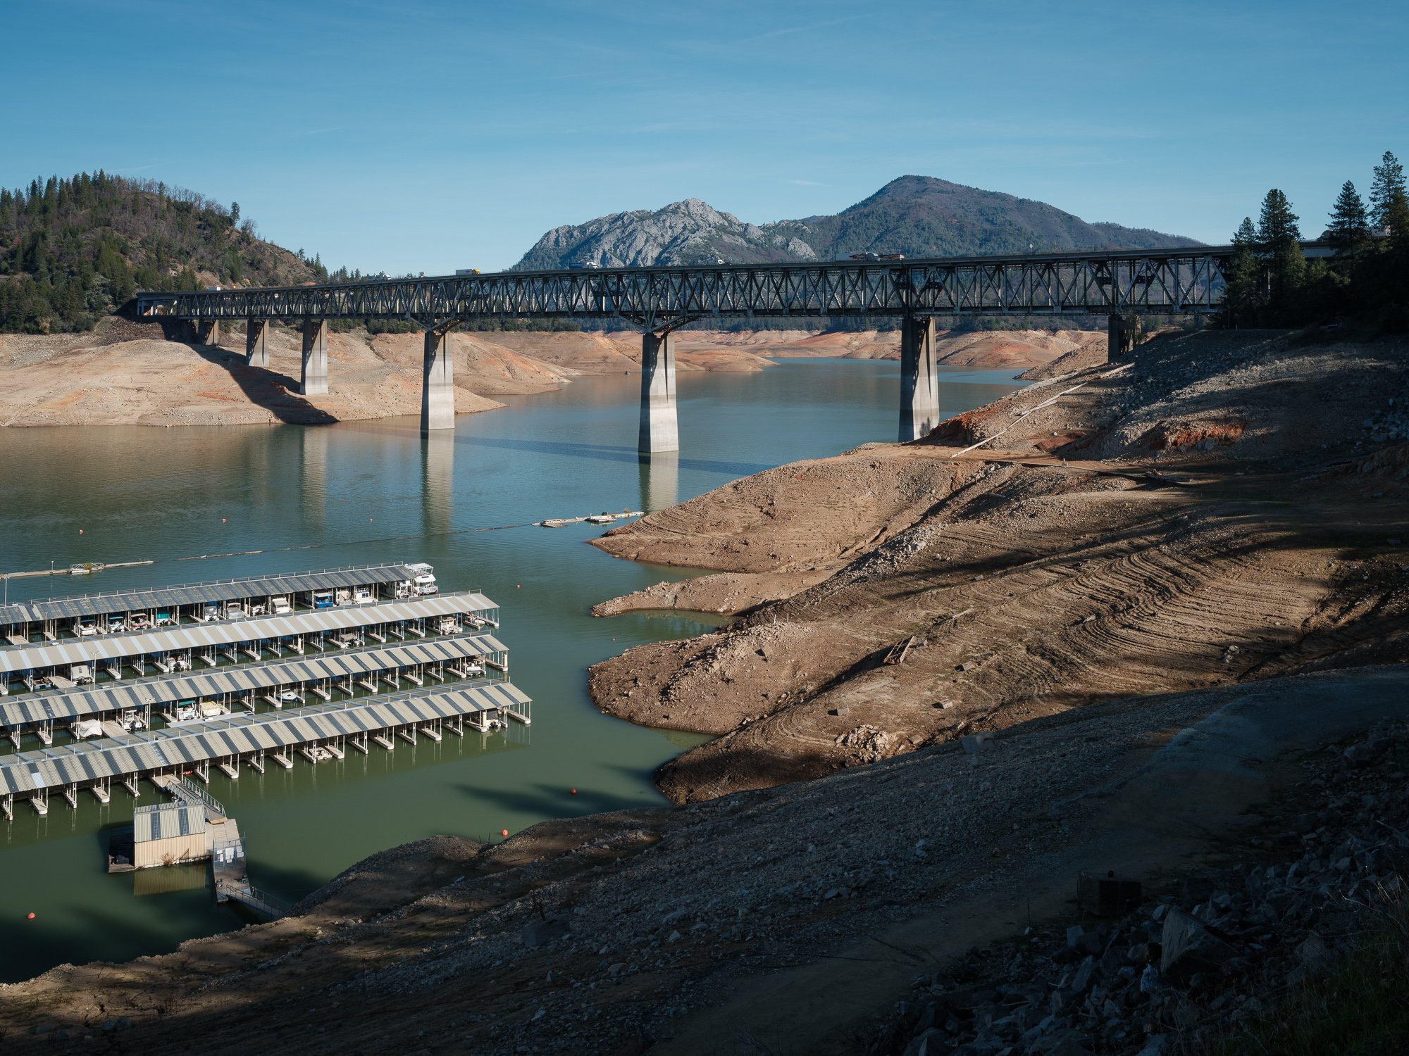
[[597, 545], [731, 579], [599, 611], [744, 615], [597, 665], [593, 698], [721, 734], [658, 774], [686, 803], [1110, 694], [1402, 659], [1405, 363], [1394, 339], [1169, 335], [655, 513]]

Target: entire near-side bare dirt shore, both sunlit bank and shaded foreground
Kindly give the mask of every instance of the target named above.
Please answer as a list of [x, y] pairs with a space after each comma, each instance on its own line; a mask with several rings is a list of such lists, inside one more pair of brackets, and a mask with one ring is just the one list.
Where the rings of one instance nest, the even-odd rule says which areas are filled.
[[868, 1050], [917, 974], [1072, 924], [1078, 870], [1169, 898], [1296, 824], [1267, 805], [1299, 780], [1285, 752], [1405, 717], [1406, 352], [1079, 353], [926, 442], [612, 531], [619, 556], [720, 572], [600, 611], [740, 615], [592, 672], [613, 714], [721, 734], [658, 776], [686, 805], [386, 852], [300, 917], [0, 987], [0, 1041]]

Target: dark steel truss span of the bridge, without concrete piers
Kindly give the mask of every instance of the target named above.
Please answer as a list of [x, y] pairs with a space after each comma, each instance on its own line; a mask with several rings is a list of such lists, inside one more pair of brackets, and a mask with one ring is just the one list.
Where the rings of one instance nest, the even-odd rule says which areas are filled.
[[664, 332], [700, 318], [1184, 315], [1216, 311], [1231, 246], [927, 260], [602, 268], [139, 293], [187, 320], [624, 320]]

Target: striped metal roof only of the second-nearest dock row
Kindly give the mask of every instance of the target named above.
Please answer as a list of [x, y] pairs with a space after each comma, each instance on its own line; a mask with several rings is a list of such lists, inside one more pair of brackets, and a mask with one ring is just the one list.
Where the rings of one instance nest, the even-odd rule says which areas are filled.
[[376, 645], [345, 652], [314, 653], [287, 660], [265, 660], [210, 672], [132, 679], [86, 690], [44, 693], [38, 697], [0, 703], [0, 727], [21, 727], [31, 722], [54, 722], [96, 715], [123, 708], [142, 708], [151, 704], [173, 704], [180, 700], [213, 697], [221, 693], [248, 693], [297, 681], [342, 679], [356, 674], [409, 667], [416, 663], [466, 660], [507, 652], [493, 635], [407, 642], [404, 645]]

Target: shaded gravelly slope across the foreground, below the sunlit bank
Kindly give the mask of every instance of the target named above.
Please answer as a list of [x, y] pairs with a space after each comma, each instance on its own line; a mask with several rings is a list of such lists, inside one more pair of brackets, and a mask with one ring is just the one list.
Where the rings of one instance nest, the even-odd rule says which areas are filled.
[[[1306, 828], [1295, 815], [1316, 803], [1288, 811], [1272, 798], [1265, 821], [1244, 811], [1278, 790], [1282, 804], [1285, 790], [1305, 797], [1308, 774], [1284, 753], [1402, 715], [1405, 687], [1401, 667], [1112, 701], [1000, 735], [979, 753], [938, 745], [679, 811], [544, 822], [493, 846], [423, 841], [358, 863], [296, 917], [0, 987], [0, 1046], [161, 1056], [189, 1052], [196, 1036], [210, 1053], [889, 1052], [872, 1046], [903, 1048], [903, 1029], [919, 1026], [906, 1012], [896, 1029], [898, 998], [948, 1011], [958, 1004], [948, 966], [1003, 941], [1024, 943], [1031, 974], [1010, 981], [1005, 963], [975, 980], [989, 986], [955, 1012], [964, 1029], [993, 1012], [983, 1029], [1006, 1038], [1020, 1015], [1041, 1028], [1033, 1036], [1044, 1045], [1030, 1050], [1051, 1052], [1047, 1041], [1072, 1039], [1072, 1017], [1079, 1045], [1115, 1038], [1100, 1052], [1134, 1053], [1165, 1032], [1162, 1015], [1122, 1038], [1079, 1018], [1088, 983], [1126, 993], [1113, 980], [1136, 939], [1117, 935], [1130, 938], [1160, 905], [1192, 910], [1184, 879], [1198, 881], [1210, 856], [1255, 860], [1260, 845]], [[1354, 870], [1332, 853], [1379, 829], [1344, 807], [1347, 794], [1389, 793], [1395, 812], [1370, 815], [1385, 819], [1402, 815], [1399, 800], [1365, 783], [1334, 791], [1344, 818], [1313, 819], [1303, 845], [1317, 865], [1291, 877], [1285, 856], [1268, 857], [1278, 873], [1260, 873], [1271, 883], [1257, 890], [1278, 921], [1248, 941], [1296, 936], [1313, 919], [1326, 895], [1303, 876], [1350, 890], [1385, 869], [1354, 845]], [[1091, 869], [1144, 880], [1144, 912], [1105, 936], [1081, 919], [1071, 895]], [[1226, 883], [1215, 890], [1234, 890]], [[1213, 901], [1209, 922], [1258, 907], [1237, 891]], [[1072, 925], [1100, 941], [1102, 974], [1053, 972], [1064, 997], [1053, 1015], [1043, 986], [1045, 1022], [1024, 1011], [1026, 987], [1045, 983], [1047, 938]], [[42, 935], [42, 921], [32, 926]], [[1107, 942], [1122, 957], [1109, 969]], [[1160, 1001], [1171, 1017], [1220, 993], [1220, 980], [1171, 973], [1168, 983]], [[1022, 1000], [983, 993], [1003, 986], [1024, 987]], [[1012, 1018], [993, 1022], [1003, 1018], [995, 1004]], [[934, 1022], [964, 1038], [938, 1014]]]

